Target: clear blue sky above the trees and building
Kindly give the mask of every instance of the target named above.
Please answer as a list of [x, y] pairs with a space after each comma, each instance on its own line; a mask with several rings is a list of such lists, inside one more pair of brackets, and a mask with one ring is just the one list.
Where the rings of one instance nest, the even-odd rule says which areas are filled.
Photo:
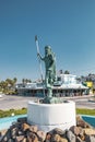
[[95, 0], [0, 0], [0, 81], [40, 78], [36, 34], [57, 70], [95, 73]]

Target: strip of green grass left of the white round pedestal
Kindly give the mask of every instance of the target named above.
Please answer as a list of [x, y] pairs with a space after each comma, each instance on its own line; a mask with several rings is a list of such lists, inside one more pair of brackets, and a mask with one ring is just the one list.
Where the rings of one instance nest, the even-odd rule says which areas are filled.
[[26, 108], [22, 108], [22, 109], [10, 109], [10, 110], [0, 110], [0, 118], [3, 117], [10, 117], [12, 116], [12, 114], [16, 115], [25, 115], [27, 113]]

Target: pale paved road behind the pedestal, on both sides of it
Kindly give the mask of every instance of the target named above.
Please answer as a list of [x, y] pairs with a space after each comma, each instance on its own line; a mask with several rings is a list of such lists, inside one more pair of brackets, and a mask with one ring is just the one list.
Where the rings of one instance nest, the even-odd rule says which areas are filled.
[[[95, 103], [88, 102], [90, 96], [82, 96], [82, 97], [66, 97], [63, 99], [70, 99], [75, 102], [76, 108], [90, 108], [95, 109]], [[0, 109], [7, 110], [7, 109], [19, 109], [19, 108], [27, 108], [28, 100], [37, 100], [36, 97], [24, 97], [24, 96], [8, 96], [3, 95], [2, 98], [0, 98]]]

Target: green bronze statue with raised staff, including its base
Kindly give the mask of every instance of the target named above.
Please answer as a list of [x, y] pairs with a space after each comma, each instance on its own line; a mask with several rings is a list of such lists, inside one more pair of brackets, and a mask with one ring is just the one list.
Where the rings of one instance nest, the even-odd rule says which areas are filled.
[[[46, 70], [45, 85], [46, 85], [46, 88], [48, 92], [47, 92], [47, 96], [43, 99], [43, 103], [45, 103], [45, 104], [60, 103], [59, 98], [52, 96], [54, 83], [57, 82], [57, 80], [56, 80], [57, 79], [56, 78], [56, 56], [52, 52], [50, 46], [45, 46], [45, 57], [41, 57], [39, 54], [37, 36], [35, 36], [35, 40], [36, 40], [36, 46], [37, 46], [37, 56], [39, 58], [39, 63], [40, 63], [40, 60], [43, 60], [45, 62], [45, 70]], [[41, 68], [40, 68], [40, 72], [41, 72]]]

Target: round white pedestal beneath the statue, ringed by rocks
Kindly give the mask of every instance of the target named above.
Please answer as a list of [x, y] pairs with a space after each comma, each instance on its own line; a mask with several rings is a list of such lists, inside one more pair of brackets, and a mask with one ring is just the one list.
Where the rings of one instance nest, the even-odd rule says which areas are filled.
[[37, 125], [38, 129], [48, 132], [55, 128], [62, 130], [76, 125], [75, 103], [38, 104], [28, 102], [27, 122]]

